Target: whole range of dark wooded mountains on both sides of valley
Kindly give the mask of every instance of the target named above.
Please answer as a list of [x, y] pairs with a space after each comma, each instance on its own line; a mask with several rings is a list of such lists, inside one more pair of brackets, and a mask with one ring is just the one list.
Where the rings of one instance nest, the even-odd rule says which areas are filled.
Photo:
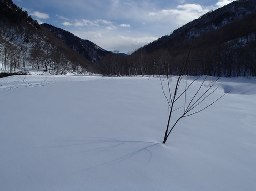
[[103, 75], [256, 76], [256, 0], [210, 11], [133, 54], [115, 54], [0, 0], [1, 70], [19, 68]]

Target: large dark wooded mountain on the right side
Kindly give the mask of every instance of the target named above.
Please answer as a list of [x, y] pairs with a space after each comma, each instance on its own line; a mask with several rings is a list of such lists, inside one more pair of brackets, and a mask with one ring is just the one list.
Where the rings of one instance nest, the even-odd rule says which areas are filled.
[[128, 75], [178, 75], [186, 63], [186, 75], [249, 77], [256, 76], [255, 52], [256, 0], [239, 0], [145, 45], [117, 68]]

